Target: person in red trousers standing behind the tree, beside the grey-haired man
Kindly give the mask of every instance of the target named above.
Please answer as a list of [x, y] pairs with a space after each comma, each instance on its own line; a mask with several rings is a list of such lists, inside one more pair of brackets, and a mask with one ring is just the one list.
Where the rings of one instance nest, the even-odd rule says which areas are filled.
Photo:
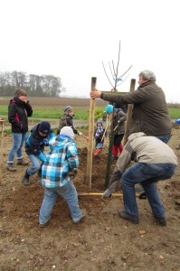
[[119, 154], [122, 153], [123, 145], [121, 143], [123, 136], [125, 134], [125, 121], [127, 119], [127, 114], [123, 112], [118, 105], [115, 105], [114, 115], [112, 119], [111, 129], [114, 130], [114, 143], [112, 146], [112, 160], [118, 159]]

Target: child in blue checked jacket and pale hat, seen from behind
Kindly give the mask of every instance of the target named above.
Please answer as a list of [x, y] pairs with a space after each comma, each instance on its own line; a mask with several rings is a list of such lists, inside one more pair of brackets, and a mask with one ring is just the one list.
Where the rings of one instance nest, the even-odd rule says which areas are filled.
[[39, 216], [42, 228], [51, 220], [52, 209], [59, 195], [67, 201], [73, 223], [81, 222], [86, 215], [86, 211], [80, 209], [78, 194], [72, 182], [79, 167], [78, 149], [73, 138], [73, 130], [65, 126], [60, 135], [50, 140], [50, 151], [42, 167], [44, 196]]

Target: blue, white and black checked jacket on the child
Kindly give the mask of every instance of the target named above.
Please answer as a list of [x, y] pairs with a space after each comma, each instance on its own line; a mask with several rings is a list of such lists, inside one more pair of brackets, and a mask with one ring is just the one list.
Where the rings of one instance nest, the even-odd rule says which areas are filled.
[[71, 137], [58, 135], [50, 142], [50, 151], [42, 167], [42, 185], [47, 188], [62, 187], [71, 181], [69, 173], [78, 168], [78, 149]]

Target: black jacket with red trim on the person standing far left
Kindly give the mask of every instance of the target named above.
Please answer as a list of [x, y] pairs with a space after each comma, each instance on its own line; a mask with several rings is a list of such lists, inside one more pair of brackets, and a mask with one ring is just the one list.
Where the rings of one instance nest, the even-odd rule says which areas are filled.
[[8, 119], [12, 126], [12, 133], [26, 133], [28, 131], [28, 119], [33, 115], [33, 109], [29, 104], [14, 97], [9, 102]]

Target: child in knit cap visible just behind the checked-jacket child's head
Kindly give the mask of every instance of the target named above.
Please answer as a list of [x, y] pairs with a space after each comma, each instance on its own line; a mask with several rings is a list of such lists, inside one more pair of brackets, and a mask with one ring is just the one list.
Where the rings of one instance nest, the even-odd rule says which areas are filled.
[[63, 109], [64, 114], [63, 116], [60, 118], [60, 124], [59, 127], [57, 129], [57, 135], [60, 134], [62, 127], [64, 126], [70, 126], [74, 132], [74, 134], [76, 135], [82, 135], [82, 133], [80, 131], [78, 131], [74, 126], [73, 126], [73, 117], [74, 117], [74, 113], [72, 110], [71, 106], [66, 106]]

